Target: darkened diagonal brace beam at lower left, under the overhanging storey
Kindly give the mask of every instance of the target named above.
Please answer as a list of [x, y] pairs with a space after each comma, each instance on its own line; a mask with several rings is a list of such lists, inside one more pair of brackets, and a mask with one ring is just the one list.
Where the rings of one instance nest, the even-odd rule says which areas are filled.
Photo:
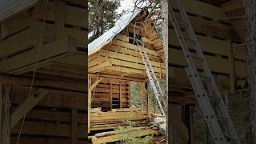
[[13, 128], [22, 117], [38, 104], [49, 93], [49, 90], [39, 89], [21, 102], [10, 116], [10, 128]]

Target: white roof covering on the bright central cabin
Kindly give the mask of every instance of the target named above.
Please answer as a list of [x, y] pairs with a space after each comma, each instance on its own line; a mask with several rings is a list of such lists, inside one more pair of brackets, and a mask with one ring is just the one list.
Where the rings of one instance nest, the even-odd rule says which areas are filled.
[[94, 39], [93, 42], [90, 42], [88, 45], [88, 54], [94, 54], [98, 50], [101, 50], [102, 46], [108, 44], [117, 34], [119, 34], [129, 23], [136, 18], [141, 11], [136, 11], [133, 14], [130, 14], [122, 22], [119, 22], [118, 25], [112, 27], [106, 33], [102, 34], [100, 37]]

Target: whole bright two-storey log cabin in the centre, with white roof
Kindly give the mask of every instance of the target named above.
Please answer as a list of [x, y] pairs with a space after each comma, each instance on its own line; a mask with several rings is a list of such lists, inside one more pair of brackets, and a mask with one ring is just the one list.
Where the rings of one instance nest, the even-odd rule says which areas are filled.
[[[88, 46], [88, 132], [114, 129], [126, 120], [136, 126], [146, 126], [151, 116], [147, 90], [149, 78], [146, 67], [134, 42], [134, 35], [144, 42], [146, 54], [157, 78], [166, 77], [162, 40], [155, 30], [152, 16], [146, 11], [130, 14]], [[134, 109], [130, 100], [130, 82], [137, 82], [145, 99], [145, 108]], [[165, 89], [165, 88], [163, 88]], [[136, 97], [136, 95], [135, 95]], [[129, 118], [132, 115], [132, 118]], [[144, 135], [154, 134], [152, 130]], [[140, 136], [141, 134], [138, 133]], [[102, 135], [92, 138], [93, 143], [104, 141]], [[114, 141], [113, 141], [114, 142]]]

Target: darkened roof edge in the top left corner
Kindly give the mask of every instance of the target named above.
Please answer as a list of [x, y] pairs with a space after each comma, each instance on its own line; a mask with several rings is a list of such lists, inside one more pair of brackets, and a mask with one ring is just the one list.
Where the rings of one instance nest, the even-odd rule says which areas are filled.
[[0, 0], [0, 22], [34, 6], [38, 0]]

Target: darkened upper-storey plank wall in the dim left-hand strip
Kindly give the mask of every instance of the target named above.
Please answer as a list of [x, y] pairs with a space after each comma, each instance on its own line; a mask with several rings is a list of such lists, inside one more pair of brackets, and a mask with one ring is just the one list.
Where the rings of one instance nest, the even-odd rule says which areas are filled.
[[30, 72], [37, 59], [42, 68], [38, 73], [82, 78], [86, 70], [85, 9], [83, 1], [40, 0], [30, 10], [6, 19], [1, 23], [0, 72]]

